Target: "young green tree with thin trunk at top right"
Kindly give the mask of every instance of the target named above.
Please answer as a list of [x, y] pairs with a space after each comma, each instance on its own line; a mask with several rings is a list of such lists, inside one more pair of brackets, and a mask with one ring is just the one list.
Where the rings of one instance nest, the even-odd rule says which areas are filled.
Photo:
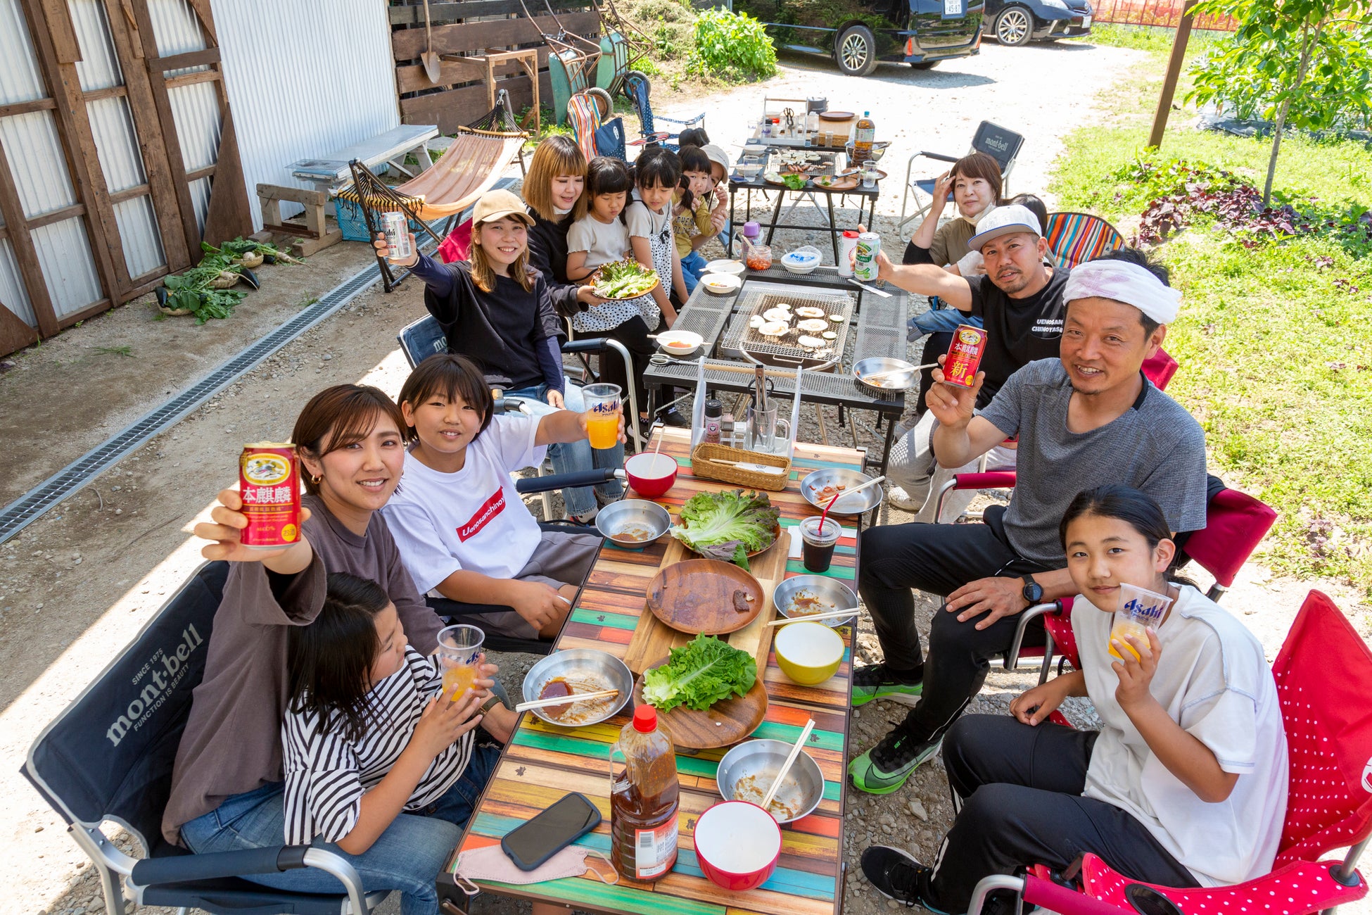
[[1233, 106], [1273, 122], [1262, 203], [1288, 126], [1324, 130], [1372, 119], [1372, 12], [1367, 0], [1202, 0], [1195, 14], [1239, 21], [1233, 37], [1196, 64], [1188, 102]]

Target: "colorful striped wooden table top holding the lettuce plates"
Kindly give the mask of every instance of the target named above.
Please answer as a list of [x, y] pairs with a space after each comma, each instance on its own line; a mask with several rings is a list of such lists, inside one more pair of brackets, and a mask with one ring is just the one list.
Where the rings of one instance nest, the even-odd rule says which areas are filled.
[[[735, 488], [691, 475], [687, 433], [667, 429], [663, 453], [676, 457], [676, 484], [656, 499], [674, 513], [702, 490]], [[800, 480], [811, 471], [830, 466], [862, 469], [863, 453], [853, 449], [797, 444], [790, 479], [781, 492], [768, 492], [789, 528], [819, 512], [800, 495]], [[844, 519], [859, 530], [860, 519]], [[786, 535], [775, 550], [785, 550]], [[648, 613], [645, 593], [657, 573], [664, 543], [642, 551], [601, 551], [557, 647], [597, 647], [617, 657], [628, 649], [639, 613]], [[766, 556], [766, 554], [764, 554]], [[779, 565], [779, 557], [778, 557]], [[856, 590], [856, 535], [845, 535], [834, 551], [827, 575], [844, 579]], [[804, 575], [800, 560], [786, 560], [783, 576]], [[814, 813], [782, 827], [782, 853], [777, 872], [763, 886], [731, 893], [712, 883], [696, 861], [691, 830], [696, 818], [719, 801], [715, 770], [724, 749], [678, 754], [681, 778], [679, 851], [672, 872], [654, 883], [620, 879], [606, 886], [591, 871], [543, 883], [482, 882], [487, 892], [556, 901], [583, 911], [652, 915], [830, 915], [842, 907], [842, 809], [845, 749], [852, 671], [852, 631], [838, 630], [848, 645], [842, 667], [819, 686], [799, 686], [786, 679], [770, 653], [763, 682], [767, 717], [755, 738], [794, 742], [805, 720], [815, 719], [807, 752], [825, 775], [825, 797]], [[494, 778], [486, 787], [458, 851], [495, 845], [508, 831], [552, 805], [568, 792], [589, 797], [604, 818], [594, 833], [578, 845], [609, 856], [609, 748], [628, 723], [628, 711], [590, 727], [567, 728], [524, 715], [505, 749]], [[726, 748], [727, 749], [727, 748]], [[590, 859], [600, 870], [604, 861]]]

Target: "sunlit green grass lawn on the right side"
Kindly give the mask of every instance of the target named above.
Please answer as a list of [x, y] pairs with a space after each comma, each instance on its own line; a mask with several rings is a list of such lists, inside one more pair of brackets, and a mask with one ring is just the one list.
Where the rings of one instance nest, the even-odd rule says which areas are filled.
[[[1157, 54], [1109, 93], [1099, 126], [1067, 137], [1050, 189], [1061, 209], [1098, 213], [1131, 235], [1147, 200], [1115, 174], [1143, 154], [1170, 33], [1095, 37]], [[1185, 86], [1183, 75], [1179, 104]], [[1174, 110], [1148, 158], [1206, 163], [1261, 188], [1269, 143], [1196, 130], [1194, 114]], [[1372, 151], [1287, 136], [1275, 188], [1365, 210]], [[1165, 344], [1181, 364], [1168, 392], [1205, 427], [1211, 472], [1280, 514], [1261, 561], [1372, 597], [1372, 257], [1312, 237], [1244, 247], [1205, 222], [1154, 257], [1185, 294]]]

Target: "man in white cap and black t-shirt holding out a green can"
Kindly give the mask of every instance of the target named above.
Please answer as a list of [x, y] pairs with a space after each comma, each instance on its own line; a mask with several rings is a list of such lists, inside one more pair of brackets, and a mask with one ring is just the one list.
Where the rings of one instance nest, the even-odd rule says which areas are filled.
[[[986, 381], [977, 399], [977, 406], [982, 407], [1021, 366], [1058, 357], [1067, 270], [1044, 263], [1048, 241], [1039, 218], [1018, 204], [992, 210], [977, 225], [977, 235], [967, 247], [981, 251], [985, 276], [960, 277], [929, 263], [895, 265], [885, 255], [878, 255], [878, 276], [918, 295], [937, 295], [954, 309], [984, 321], [986, 347], [981, 370]], [[933, 414], [925, 413], [901, 435], [892, 446], [886, 469], [890, 503], [915, 512], [916, 521], [937, 521], [933, 512], [938, 488], [954, 473], [974, 469], [937, 468], [930, 447], [934, 424]], [[1014, 457], [1014, 449], [993, 449], [986, 466], [1013, 468]]]

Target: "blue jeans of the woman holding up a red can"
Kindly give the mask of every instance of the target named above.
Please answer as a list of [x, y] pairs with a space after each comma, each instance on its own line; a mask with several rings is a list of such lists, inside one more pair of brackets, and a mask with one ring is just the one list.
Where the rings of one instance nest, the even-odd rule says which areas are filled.
[[[499, 749], [477, 744], [462, 776], [440, 798], [414, 813], [397, 816], [372, 848], [348, 855], [332, 842], [313, 845], [342, 855], [357, 870], [362, 889], [399, 890], [403, 915], [438, 915], [434, 878], [447, 864], [462, 829], [495, 771]], [[181, 827], [181, 841], [198, 855], [273, 848], [285, 844], [284, 783], [274, 782], [235, 794], [215, 809]], [[280, 874], [252, 874], [244, 879], [294, 893], [342, 893], [331, 874], [305, 867]]]

